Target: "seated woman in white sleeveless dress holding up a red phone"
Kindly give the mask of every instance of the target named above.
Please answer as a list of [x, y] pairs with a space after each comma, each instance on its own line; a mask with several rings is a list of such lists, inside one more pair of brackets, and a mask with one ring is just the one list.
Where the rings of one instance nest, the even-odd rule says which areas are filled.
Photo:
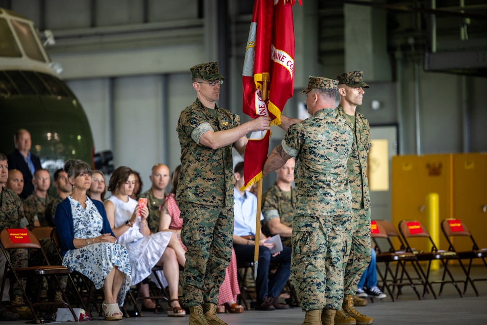
[[[125, 245], [129, 252], [132, 285], [146, 279], [154, 266], [162, 266], [169, 286], [168, 316], [184, 316], [186, 312], [178, 301], [178, 286], [179, 265], [186, 263], [185, 251], [172, 232], [150, 233], [146, 220], [149, 216], [147, 205], [141, 208], [130, 197], [134, 184], [135, 175], [129, 167], [117, 168], [108, 185], [112, 196], [103, 203], [118, 243]], [[140, 291], [142, 296], [149, 296], [149, 285], [142, 284]], [[150, 310], [155, 303], [145, 299], [143, 307]]]

